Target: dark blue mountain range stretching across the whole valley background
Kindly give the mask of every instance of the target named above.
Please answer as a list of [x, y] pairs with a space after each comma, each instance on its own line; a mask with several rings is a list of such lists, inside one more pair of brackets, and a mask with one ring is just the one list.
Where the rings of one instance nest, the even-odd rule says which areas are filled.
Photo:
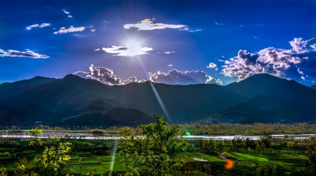
[[133, 126], [154, 122], [153, 112], [170, 123], [308, 122], [316, 119], [316, 85], [268, 74], [226, 86], [150, 81], [110, 86], [72, 74], [0, 85], [0, 126]]

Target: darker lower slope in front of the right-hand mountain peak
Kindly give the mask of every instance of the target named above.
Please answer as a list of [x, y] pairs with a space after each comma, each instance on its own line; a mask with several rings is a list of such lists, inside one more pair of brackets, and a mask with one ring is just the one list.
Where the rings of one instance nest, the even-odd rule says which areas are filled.
[[316, 119], [316, 108], [283, 96], [260, 95], [220, 110], [216, 115], [224, 121], [232, 119], [242, 124], [306, 122]]

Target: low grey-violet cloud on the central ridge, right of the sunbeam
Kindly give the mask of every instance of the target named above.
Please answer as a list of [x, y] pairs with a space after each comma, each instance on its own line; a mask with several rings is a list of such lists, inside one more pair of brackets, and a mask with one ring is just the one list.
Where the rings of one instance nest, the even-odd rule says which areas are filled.
[[193, 84], [218, 84], [215, 78], [203, 71], [177, 71], [173, 69], [168, 73], [148, 73], [152, 82], [159, 82], [168, 85], [193, 85]]

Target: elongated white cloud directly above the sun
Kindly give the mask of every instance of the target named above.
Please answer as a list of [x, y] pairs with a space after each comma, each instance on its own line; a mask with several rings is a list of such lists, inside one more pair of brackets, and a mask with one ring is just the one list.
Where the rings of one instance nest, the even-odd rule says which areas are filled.
[[124, 24], [124, 29], [131, 29], [131, 28], [138, 28], [138, 31], [140, 30], [153, 30], [153, 29], [165, 29], [165, 28], [181, 28], [185, 27], [186, 25], [183, 24], [163, 24], [163, 23], [155, 23], [153, 20], [145, 19], [137, 24]]

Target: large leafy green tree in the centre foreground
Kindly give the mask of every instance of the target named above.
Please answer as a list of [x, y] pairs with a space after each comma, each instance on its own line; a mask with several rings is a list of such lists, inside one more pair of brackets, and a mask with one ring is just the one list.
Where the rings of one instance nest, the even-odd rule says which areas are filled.
[[169, 175], [169, 171], [184, 164], [183, 159], [169, 163], [169, 154], [188, 146], [183, 138], [174, 140], [176, 135], [180, 135], [180, 126], [169, 126], [163, 115], [154, 114], [154, 117], [156, 123], [139, 126], [139, 135], [129, 127], [120, 134], [119, 156], [124, 157], [126, 175]]

